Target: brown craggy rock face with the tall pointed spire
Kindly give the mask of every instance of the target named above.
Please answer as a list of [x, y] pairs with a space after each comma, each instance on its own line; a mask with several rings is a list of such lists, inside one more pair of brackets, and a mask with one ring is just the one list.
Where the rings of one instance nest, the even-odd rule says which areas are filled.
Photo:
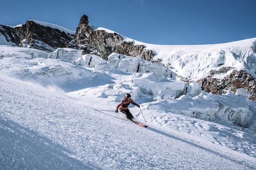
[[152, 51], [145, 50], [143, 45], [134, 45], [123, 40], [117, 33], [93, 30], [89, 26], [88, 17], [84, 15], [80, 19], [72, 44], [76, 46], [75, 42], [78, 49], [83, 49], [84, 54], [100, 55], [103, 59], [107, 59], [111, 53], [120, 53], [150, 61], [155, 55]]

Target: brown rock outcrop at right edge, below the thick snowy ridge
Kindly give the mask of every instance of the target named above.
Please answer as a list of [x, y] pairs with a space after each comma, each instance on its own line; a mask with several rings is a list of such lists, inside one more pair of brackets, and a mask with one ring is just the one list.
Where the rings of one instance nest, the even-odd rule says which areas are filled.
[[244, 70], [233, 70], [223, 79], [213, 78], [215, 74], [226, 73], [233, 68], [222, 68], [218, 71], [211, 71], [209, 76], [199, 80], [202, 84], [202, 90], [212, 92], [213, 94], [224, 94], [228, 91], [236, 93], [239, 88], [246, 89], [250, 92], [250, 100], [256, 102], [256, 80]]

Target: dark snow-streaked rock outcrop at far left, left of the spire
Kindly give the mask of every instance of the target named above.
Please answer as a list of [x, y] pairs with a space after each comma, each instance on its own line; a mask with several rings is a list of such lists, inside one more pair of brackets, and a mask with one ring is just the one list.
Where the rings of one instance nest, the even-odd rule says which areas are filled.
[[68, 47], [74, 37], [72, 34], [40, 25], [32, 20], [14, 28], [0, 25], [0, 32], [6, 41], [13, 43], [13, 45], [27, 46], [48, 52], [52, 52], [58, 47]]

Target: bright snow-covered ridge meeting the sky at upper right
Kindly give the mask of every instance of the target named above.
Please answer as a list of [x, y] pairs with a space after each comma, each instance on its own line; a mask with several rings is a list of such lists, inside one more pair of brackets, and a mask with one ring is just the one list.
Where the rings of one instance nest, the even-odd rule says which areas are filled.
[[[102, 27], [94, 28], [107, 33], [117, 33]], [[256, 77], [256, 38], [208, 45], [156, 45], [120, 36], [126, 42], [144, 45], [145, 49], [156, 54], [153, 59], [160, 59], [161, 63], [172, 67], [176, 74], [192, 80], [203, 78], [210, 70], [221, 66], [248, 69], [249, 73]]]

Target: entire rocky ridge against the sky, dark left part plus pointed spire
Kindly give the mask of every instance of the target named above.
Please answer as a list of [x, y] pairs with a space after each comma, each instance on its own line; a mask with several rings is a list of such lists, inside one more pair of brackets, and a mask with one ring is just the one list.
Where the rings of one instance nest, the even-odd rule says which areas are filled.
[[[104, 30], [94, 30], [89, 25], [88, 16], [83, 15], [77, 26], [75, 35], [66, 33], [41, 22], [28, 20], [21, 27], [6, 27], [0, 31], [6, 37], [8, 44], [30, 47], [52, 52], [57, 48], [70, 47], [82, 49], [83, 54], [94, 54], [107, 60], [112, 53], [120, 53], [132, 57], [152, 60], [155, 53], [145, 49], [143, 45], [126, 42], [118, 33], [108, 33]], [[10, 42], [9, 42], [10, 41]]]

